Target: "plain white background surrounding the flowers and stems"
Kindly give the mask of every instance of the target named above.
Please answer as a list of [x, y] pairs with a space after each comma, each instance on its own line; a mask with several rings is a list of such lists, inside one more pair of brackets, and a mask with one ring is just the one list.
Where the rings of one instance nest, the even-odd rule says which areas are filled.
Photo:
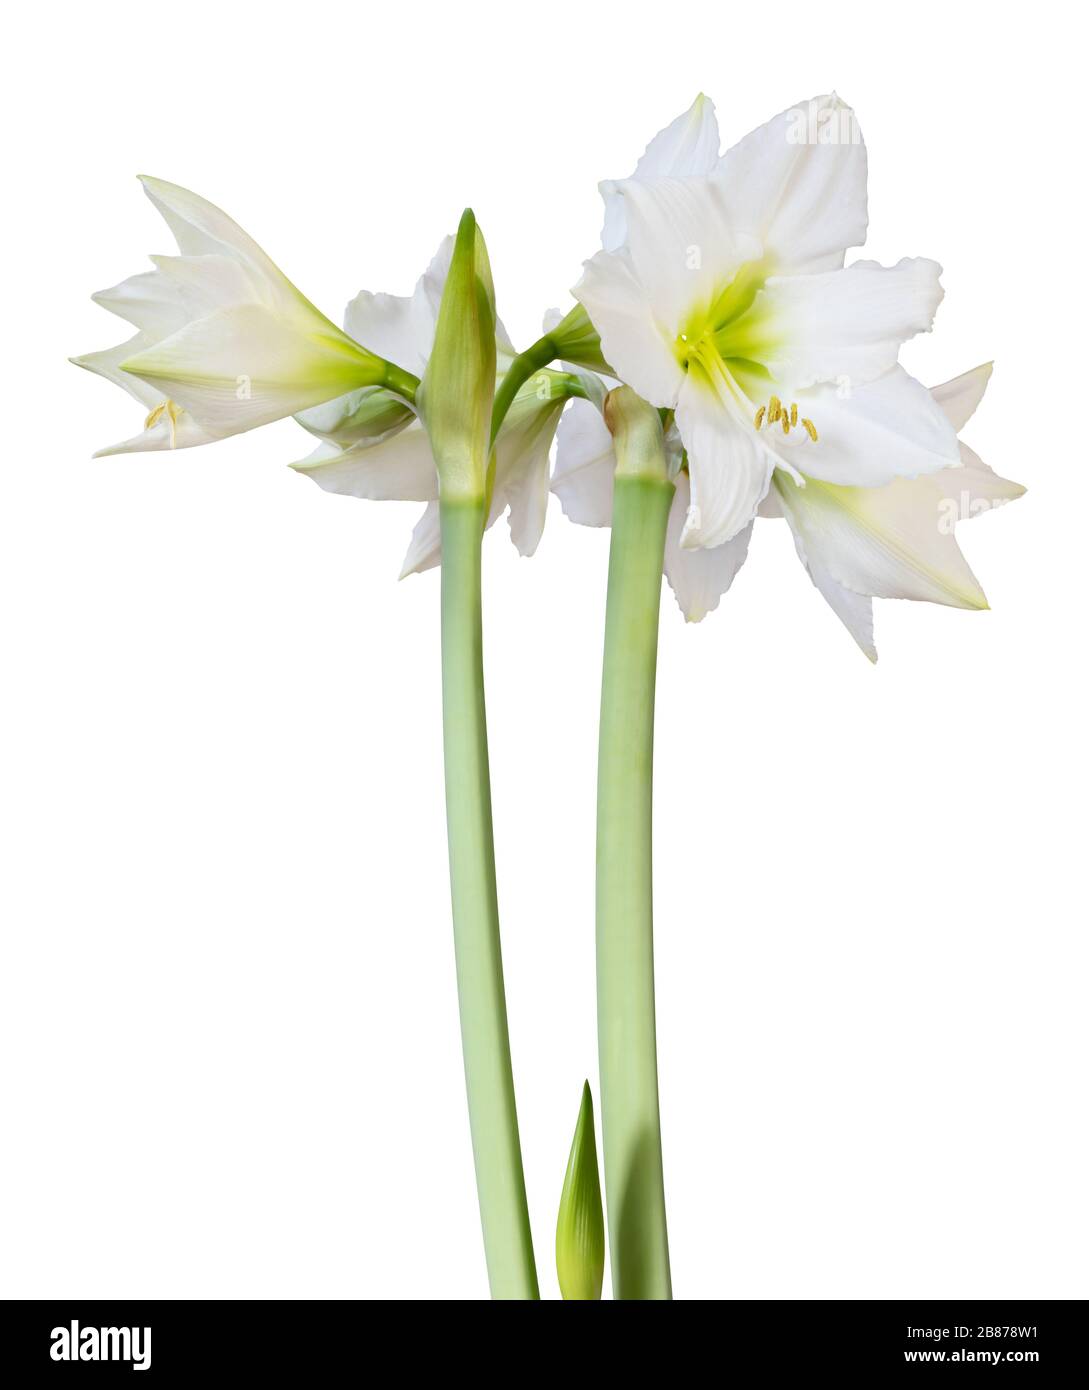
[[[224, 206], [332, 317], [471, 204], [515, 341], [597, 181], [704, 89], [732, 143], [836, 88], [864, 254], [935, 256], [904, 360], [996, 359], [964, 528], [992, 612], [878, 607], [871, 669], [761, 523], [663, 596], [656, 941], [680, 1298], [1085, 1297], [1085, 50], [1038, 3], [39, 6], [6, 21], [0, 1291], [478, 1298], [437, 575], [285, 421], [90, 461], [93, 289]], [[1074, 28], [1072, 28], [1074, 26]], [[608, 535], [487, 539], [499, 897], [542, 1293], [595, 1084]]]

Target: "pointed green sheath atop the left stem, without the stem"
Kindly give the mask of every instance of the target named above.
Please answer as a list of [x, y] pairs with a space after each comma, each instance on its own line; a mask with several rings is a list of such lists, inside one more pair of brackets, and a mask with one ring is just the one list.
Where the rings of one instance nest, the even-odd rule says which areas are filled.
[[438, 309], [434, 348], [416, 393], [444, 500], [484, 498], [494, 393], [495, 292], [484, 238], [466, 208]]

